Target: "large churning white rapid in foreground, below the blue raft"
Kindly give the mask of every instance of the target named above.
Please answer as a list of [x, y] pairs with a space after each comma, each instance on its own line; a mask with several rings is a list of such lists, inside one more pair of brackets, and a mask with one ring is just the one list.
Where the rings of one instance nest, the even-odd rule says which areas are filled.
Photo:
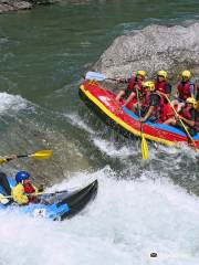
[[[65, 189], [98, 179], [97, 198], [72, 220], [0, 212], [0, 264], [198, 265], [198, 198], [164, 178], [115, 177], [107, 166], [54, 186]], [[149, 257], [151, 252], [158, 257]]]

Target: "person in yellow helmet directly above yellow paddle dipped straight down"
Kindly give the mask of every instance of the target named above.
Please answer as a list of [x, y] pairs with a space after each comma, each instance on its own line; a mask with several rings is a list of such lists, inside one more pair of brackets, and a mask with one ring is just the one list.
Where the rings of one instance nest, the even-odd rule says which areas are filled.
[[[156, 91], [155, 83], [153, 81], [147, 81], [143, 83], [143, 87], [146, 88], [145, 102], [140, 104], [140, 121], [151, 121], [157, 123], [161, 120], [164, 98]], [[138, 113], [137, 106], [137, 113]]]

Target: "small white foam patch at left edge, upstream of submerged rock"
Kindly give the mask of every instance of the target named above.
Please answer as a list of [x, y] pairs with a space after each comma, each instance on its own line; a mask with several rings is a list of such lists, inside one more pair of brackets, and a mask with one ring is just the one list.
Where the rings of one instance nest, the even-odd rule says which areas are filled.
[[6, 112], [19, 112], [27, 108], [27, 100], [20, 95], [11, 95], [6, 92], [0, 93], [0, 114]]

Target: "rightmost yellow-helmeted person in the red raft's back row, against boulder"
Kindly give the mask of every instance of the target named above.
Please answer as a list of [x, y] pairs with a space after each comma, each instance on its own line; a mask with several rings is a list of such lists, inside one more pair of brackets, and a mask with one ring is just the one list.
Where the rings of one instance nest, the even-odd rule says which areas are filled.
[[181, 72], [181, 80], [176, 88], [175, 97], [172, 105], [178, 106], [177, 112], [180, 112], [181, 107], [185, 106], [188, 97], [195, 97], [195, 83], [191, 81], [190, 71], [185, 70]]

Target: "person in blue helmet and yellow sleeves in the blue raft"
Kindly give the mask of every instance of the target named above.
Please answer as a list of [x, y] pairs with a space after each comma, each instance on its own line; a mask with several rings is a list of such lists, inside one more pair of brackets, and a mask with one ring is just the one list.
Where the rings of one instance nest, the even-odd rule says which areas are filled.
[[12, 197], [20, 205], [39, 202], [34, 195], [39, 190], [31, 183], [30, 177], [30, 173], [27, 171], [19, 171], [15, 174], [17, 186], [12, 189]]

